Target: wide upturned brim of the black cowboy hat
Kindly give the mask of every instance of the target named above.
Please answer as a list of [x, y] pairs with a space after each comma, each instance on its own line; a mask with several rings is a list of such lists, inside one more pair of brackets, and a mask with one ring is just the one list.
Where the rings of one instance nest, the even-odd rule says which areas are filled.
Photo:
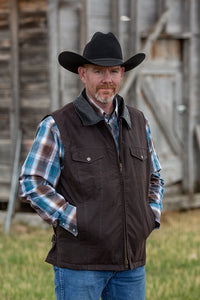
[[123, 62], [121, 59], [103, 58], [103, 59], [87, 59], [77, 53], [70, 51], [63, 51], [58, 56], [60, 65], [70, 72], [78, 74], [78, 67], [84, 64], [92, 64], [103, 67], [122, 66], [125, 68], [125, 72], [130, 71], [137, 67], [145, 59], [144, 53], [138, 53], [127, 61]]

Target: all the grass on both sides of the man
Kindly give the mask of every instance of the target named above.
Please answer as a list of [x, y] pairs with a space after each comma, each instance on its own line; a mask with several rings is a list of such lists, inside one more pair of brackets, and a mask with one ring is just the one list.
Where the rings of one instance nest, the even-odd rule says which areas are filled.
[[[167, 213], [147, 242], [146, 300], [199, 300], [200, 210]], [[44, 262], [51, 229], [0, 228], [0, 299], [55, 300], [53, 270]], [[125, 299], [128, 300], [128, 299]]]

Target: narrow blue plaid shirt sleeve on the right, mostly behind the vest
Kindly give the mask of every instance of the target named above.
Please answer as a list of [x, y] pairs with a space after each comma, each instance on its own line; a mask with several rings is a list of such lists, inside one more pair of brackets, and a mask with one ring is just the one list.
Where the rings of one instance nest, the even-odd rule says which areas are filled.
[[160, 218], [161, 218], [161, 211], [162, 211], [164, 180], [161, 178], [161, 175], [159, 173], [159, 171], [161, 170], [161, 165], [153, 145], [150, 125], [147, 119], [146, 119], [146, 132], [147, 132], [147, 140], [149, 145], [149, 151], [151, 153], [151, 162], [152, 162], [148, 201], [155, 214], [156, 227], [158, 228], [160, 226]]

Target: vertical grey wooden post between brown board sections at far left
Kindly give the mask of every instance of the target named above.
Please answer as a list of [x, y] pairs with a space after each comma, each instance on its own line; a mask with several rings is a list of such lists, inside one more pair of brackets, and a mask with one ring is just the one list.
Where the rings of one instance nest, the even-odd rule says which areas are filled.
[[17, 132], [19, 129], [20, 99], [19, 99], [19, 37], [18, 37], [18, 1], [9, 0], [10, 4], [10, 35], [11, 35], [11, 108], [10, 108], [10, 136], [12, 144], [12, 162], [15, 155]]

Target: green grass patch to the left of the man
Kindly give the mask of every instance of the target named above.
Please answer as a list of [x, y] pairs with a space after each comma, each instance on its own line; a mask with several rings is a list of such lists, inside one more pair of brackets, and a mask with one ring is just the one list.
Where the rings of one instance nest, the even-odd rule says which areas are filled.
[[0, 232], [0, 299], [55, 300], [53, 269], [44, 262], [51, 230], [15, 225]]

